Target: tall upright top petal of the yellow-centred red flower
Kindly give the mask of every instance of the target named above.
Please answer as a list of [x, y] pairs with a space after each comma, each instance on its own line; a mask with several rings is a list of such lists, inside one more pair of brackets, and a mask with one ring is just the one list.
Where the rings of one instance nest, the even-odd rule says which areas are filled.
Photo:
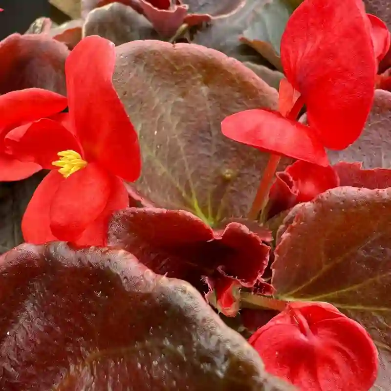
[[[105, 59], [105, 61], [102, 61]], [[66, 59], [69, 113], [87, 161], [134, 181], [141, 160], [137, 134], [111, 81], [114, 44], [98, 37], [83, 39]]]

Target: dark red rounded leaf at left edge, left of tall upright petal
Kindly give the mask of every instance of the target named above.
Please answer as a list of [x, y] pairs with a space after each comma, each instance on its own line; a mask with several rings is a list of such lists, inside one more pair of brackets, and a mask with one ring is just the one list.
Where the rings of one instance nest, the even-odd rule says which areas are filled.
[[0, 42], [0, 94], [39, 87], [65, 95], [64, 43], [45, 34], [12, 34]]

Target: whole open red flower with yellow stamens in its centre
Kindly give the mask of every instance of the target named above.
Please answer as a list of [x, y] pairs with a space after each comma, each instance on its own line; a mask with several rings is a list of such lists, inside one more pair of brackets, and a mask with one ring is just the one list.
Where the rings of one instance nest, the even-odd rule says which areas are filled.
[[98, 36], [82, 40], [65, 64], [68, 120], [42, 119], [6, 137], [13, 155], [52, 170], [23, 216], [27, 242], [104, 245], [112, 212], [128, 206], [120, 178], [138, 178], [140, 151], [112, 85], [114, 63], [113, 43]]

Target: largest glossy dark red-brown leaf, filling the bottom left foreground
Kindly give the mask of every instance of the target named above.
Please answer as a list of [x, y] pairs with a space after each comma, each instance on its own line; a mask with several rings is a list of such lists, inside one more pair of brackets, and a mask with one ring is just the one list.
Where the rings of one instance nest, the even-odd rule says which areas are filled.
[[124, 251], [22, 244], [0, 302], [2, 390], [289, 390], [191, 285]]

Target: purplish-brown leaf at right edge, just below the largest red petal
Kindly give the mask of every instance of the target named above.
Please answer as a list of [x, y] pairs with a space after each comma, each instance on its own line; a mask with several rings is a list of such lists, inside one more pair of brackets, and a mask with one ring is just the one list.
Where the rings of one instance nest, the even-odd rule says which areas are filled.
[[343, 151], [328, 151], [331, 164], [362, 162], [366, 169], [391, 167], [391, 92], [376, 90], [369, 117], [358, 140]]

